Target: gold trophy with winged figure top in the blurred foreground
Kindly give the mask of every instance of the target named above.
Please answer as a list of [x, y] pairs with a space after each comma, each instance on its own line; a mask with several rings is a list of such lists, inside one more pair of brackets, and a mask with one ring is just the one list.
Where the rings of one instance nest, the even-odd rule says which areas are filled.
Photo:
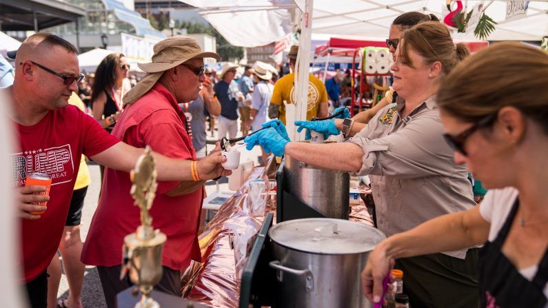
[[150, 147], [146, 147], [145, 154], [137, 160], [130, 178], [133, 183], [130, 193], [135, 199], [134, 204], [141, 209], [141, 225], [123, 239], [120, 279], [129, 273], [132, 283], [139, 285], [143, 295], [136, 308], [159, 308], [150, 293], [162, 278], [162, 249], [166, 236], [159, 229], [152, 229], [152, 217], [148, 212], [158, 186]]

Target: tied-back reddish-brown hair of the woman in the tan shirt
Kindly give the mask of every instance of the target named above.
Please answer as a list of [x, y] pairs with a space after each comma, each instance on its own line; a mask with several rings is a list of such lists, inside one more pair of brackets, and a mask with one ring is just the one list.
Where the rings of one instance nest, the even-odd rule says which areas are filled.
[[424, 57], [427, 64], [440, 61], [443, 74], [451, 72], [456, 63], [470, 54], [468, 46], [454, 44], [451, 34], [445, 25], [438, 21], [425, 21], [403, 31], [398, 45], [398, 57], [414, 68], [409, 59], [409, 48]]

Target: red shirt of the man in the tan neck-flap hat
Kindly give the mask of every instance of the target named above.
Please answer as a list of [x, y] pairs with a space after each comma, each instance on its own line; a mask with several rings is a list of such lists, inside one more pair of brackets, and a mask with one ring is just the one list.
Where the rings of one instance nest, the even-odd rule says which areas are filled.
[[[185, 114], [174, 96], [159, 84], [124, 110], [112, 134], [134, 147], [150, 145], [154, 152], [168, 157], [196, 160], [185, 130]], [[202, 189], [184, 196], [165, 194], [178, 184], [158, 182], [150, 209], [152, 226], [168, 236], [162, 264], [174, 270], [184, 269], [191, 259], [201, 259], [197, 236]], [[130, 195], [131, 185], [128, 172], [105, 169], [101, 199], [82, 250], [84, 264], [121, 264], [124, 236], [141, 225], [139, 207]]]

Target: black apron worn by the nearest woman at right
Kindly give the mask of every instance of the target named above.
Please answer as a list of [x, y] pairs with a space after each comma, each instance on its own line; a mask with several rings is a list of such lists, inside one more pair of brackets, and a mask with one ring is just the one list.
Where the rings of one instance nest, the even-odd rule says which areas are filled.
[[548, 281], [548, 251], [540, 260], [538, 271], [532, 281], [521, 276], [502, 251], [519, 204], [520, 201], [516, 198], [494, 242], [487, 241], [480, 249], [478, 271], [480, 307], [542, 308], [546, 305], [547, 298], [543, 289]]

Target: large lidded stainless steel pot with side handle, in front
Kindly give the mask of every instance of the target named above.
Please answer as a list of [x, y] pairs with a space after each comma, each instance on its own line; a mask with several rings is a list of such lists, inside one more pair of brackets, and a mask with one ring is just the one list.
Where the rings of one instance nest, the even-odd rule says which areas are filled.
[[276, 307], [372, 307], [360, 274], [370, 251], [385, 238], [349, 220], [305, 218], [273, 226]]

